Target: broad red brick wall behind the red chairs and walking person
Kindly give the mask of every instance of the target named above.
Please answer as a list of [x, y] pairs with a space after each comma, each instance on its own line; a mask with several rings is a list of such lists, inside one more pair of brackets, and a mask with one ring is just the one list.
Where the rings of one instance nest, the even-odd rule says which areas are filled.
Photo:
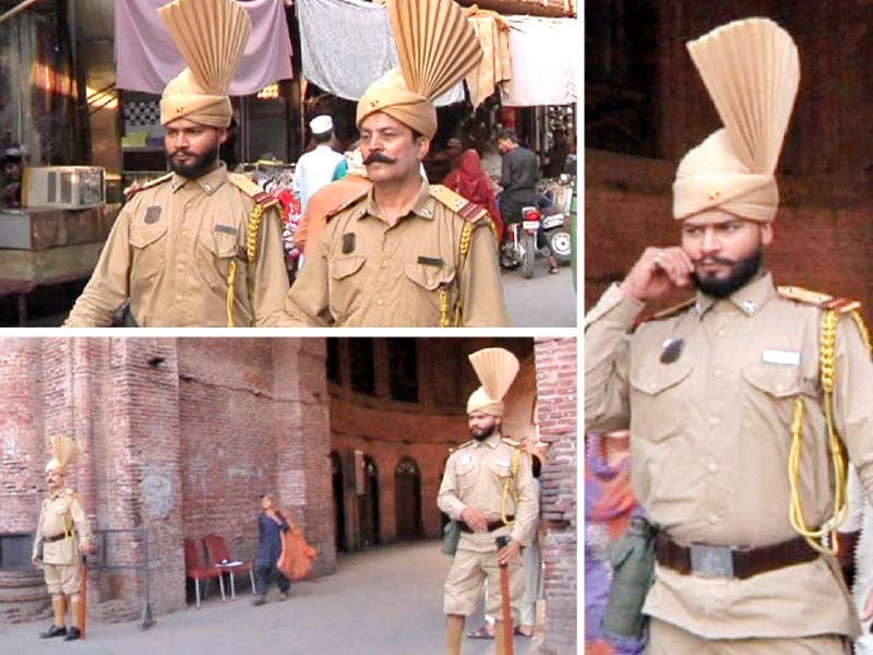
[[[215, 532], [234, 556], [254, 553], [265, 489], [319, 548], [315, 574], [333, 570], [322, 341], [2, 340], [0, 379], [11, 408], [0, 417], [0, 534], [35, 529], [48, 439], [65, 433], [82, 449], [69, 485], [92, 526], [146, 527], [156, 614], [184, 606], [184, 537]], [[135, 564], [145, 544], [113, 534], [105, 551], [110, 563]], [[89, 581], [105, 618], [142, 611], [140, 572], [95, 571]], [[0, 604], [31, 594], [7, 574], [0, 587]]]

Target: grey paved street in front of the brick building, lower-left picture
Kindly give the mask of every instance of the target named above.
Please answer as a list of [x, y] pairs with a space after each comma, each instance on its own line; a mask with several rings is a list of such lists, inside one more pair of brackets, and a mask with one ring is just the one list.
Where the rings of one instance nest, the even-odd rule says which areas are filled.
[[[87, 641], [74, 643], [39, 640], [47, 622], [0, 624], [0, 652], [442, 655], [442, 584], [450, 562], [439, 541], [374, 548], [340, 557], [334, 575], [294, 585], [286, 602], [275, 602], [275, 587], [262, 607], [251, 605], [248, 592], [227, 603], [216, 593], [202, 609], [156, 617], [146, 631], [135, 622], [91, 621]], [[481, 616], [469, 623], [478, 627]], [[530, 642], [516, 636], [516, 655], [533, 653]], [[463, 653], [490, 655], [493, 642], [465, 640]]]

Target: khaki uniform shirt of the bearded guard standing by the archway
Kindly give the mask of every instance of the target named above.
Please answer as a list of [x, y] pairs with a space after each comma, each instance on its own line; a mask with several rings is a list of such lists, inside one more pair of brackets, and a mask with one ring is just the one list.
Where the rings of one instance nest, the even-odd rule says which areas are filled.
[[[512, 483], [512, 458], [517, 448], [494, 432], [485, 441], [474, 439], [465, 443], [449, 457], [436, 504], [450, 519], [461, 521], [461, 513], [468, 507], [483, 512], [489, 523], [500, 521], [504, 510], [507, 516], [515, 515], [512, 528], [461, 533], [459, 549], [495, 550], [494, 539], [501, 535], [510, 535], [522, 546], [530, 544], [539, 514], [539, 493], [526, 453], [519, 457], [515, 484]], [[503, 490], [507, 481], [510, 490], [504, 504]]]

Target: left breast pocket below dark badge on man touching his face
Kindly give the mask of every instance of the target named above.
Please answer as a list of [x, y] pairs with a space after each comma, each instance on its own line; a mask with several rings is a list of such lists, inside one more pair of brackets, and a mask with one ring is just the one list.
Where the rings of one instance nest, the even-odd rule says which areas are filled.
[[631, 431], [646, 441], [666, 441], [687, 428], [689, 361], [631, 368]]

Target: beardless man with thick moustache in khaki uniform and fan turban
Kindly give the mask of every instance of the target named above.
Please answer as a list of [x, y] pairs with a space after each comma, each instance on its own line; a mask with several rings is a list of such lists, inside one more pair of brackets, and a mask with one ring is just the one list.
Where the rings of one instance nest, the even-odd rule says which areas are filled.
[[[402, 69], [373, 82], [357, 110], [372, 187], [328, 214], [283, 324], [505, 325], [488, 212], [421, 175], [436, 133], [433, 99], [476, 66], [481, 48], [450, 0], [388, 0], [387, 9]], [[423, 16], [429, 29], [418, 24]]]

